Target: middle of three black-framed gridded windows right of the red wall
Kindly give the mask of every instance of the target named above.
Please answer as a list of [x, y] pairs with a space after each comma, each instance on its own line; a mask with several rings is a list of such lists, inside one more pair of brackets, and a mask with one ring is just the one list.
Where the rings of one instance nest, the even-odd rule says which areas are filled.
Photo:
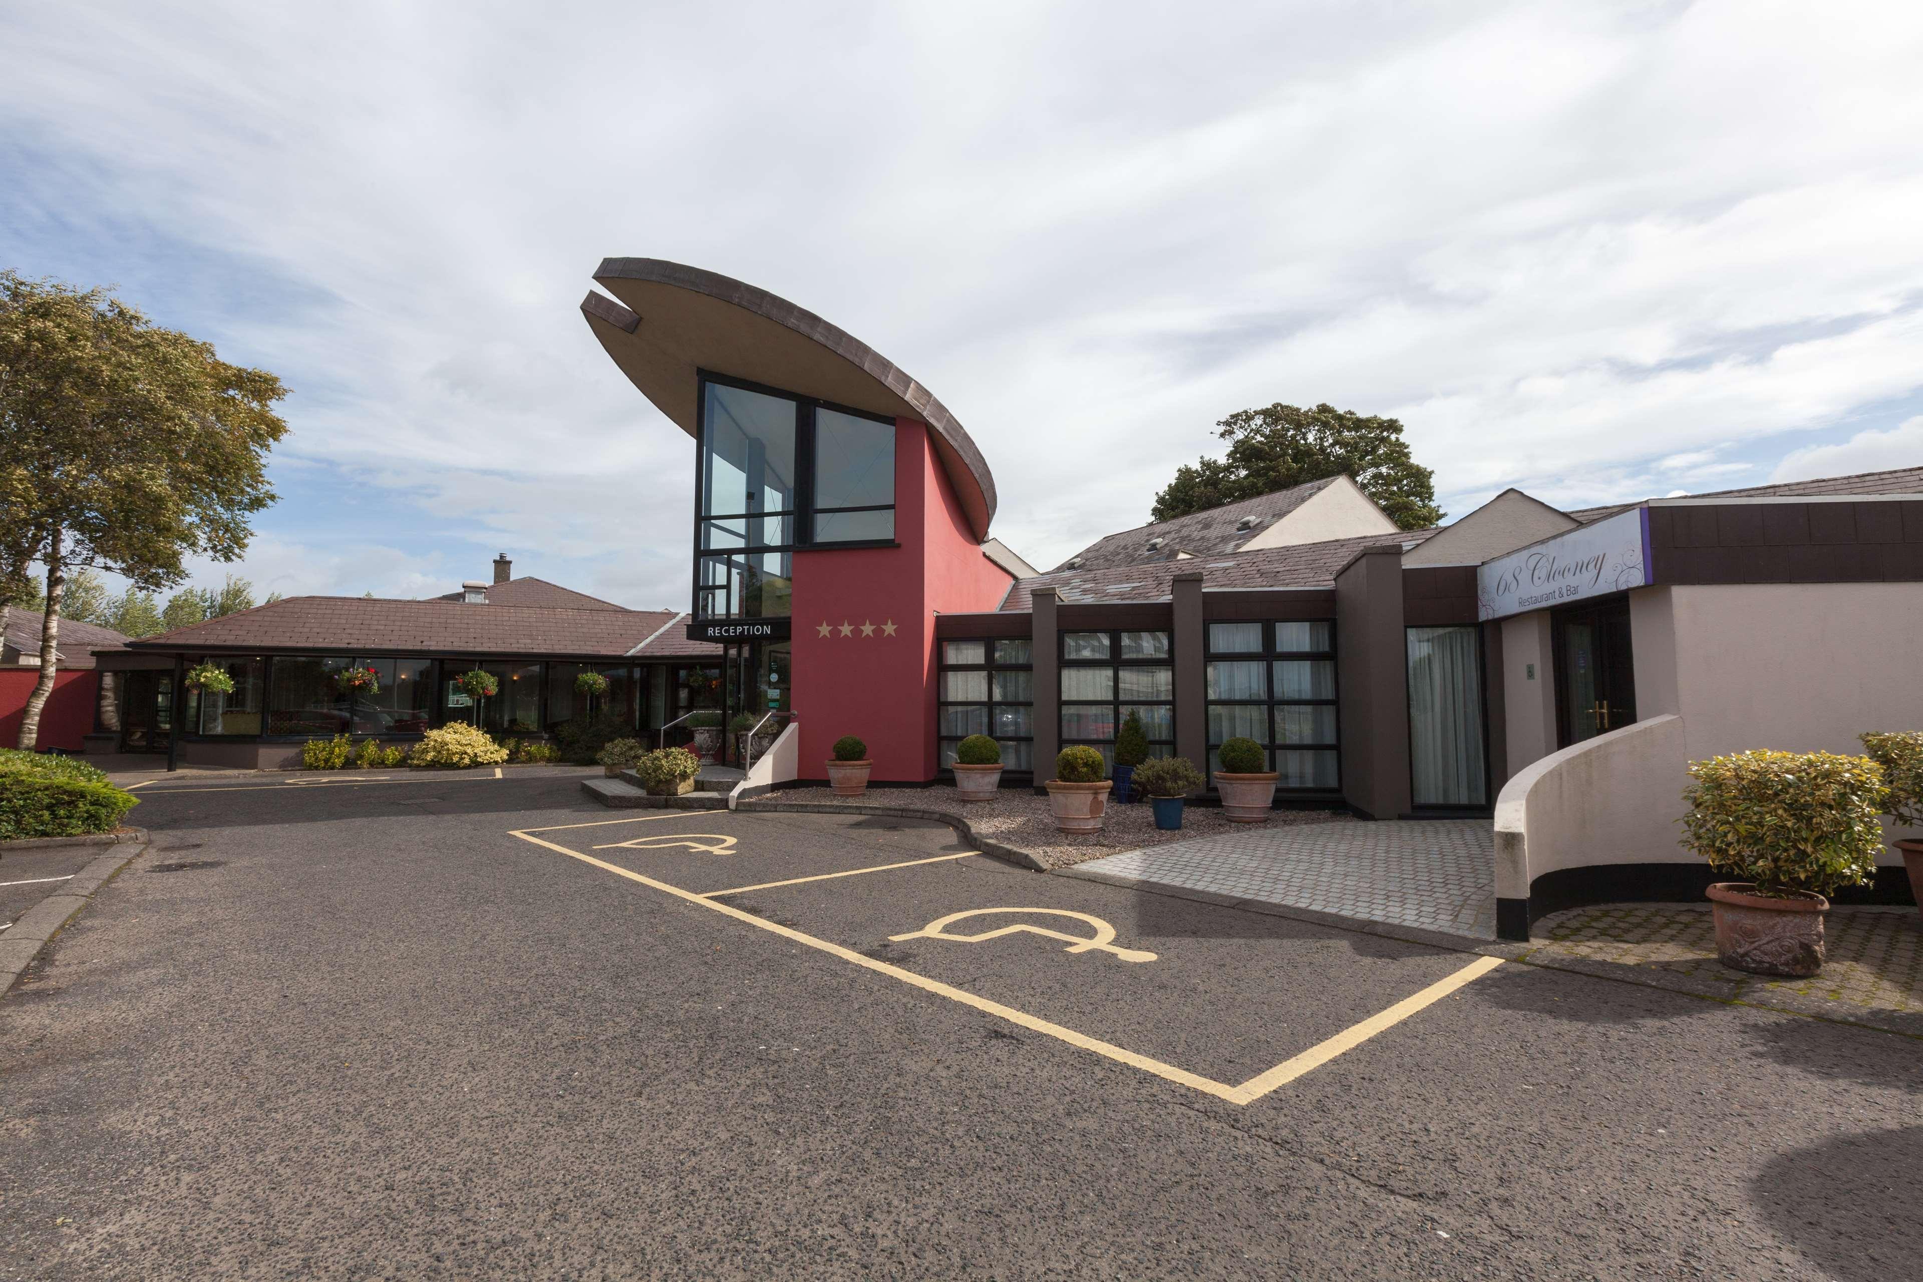
[[1115, 767], [1115, 730], [1138, 713], [1148, 755], [1175, 752], [1175, 669], [1167, 632], [1061, 634], [1061, 746], [1086, 744]]

